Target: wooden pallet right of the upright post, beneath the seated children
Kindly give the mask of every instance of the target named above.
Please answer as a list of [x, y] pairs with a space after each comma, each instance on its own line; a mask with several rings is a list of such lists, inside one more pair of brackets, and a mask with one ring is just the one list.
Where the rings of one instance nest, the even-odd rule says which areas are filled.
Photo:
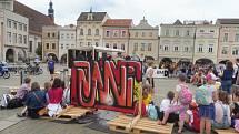
[[135, 126], [132, 126], [133, 134], [156, 133], [156, 134], [171, 134], [173, 124], [158, 125], [157, 121], [150, 121], [149, 118], [139, 120]]

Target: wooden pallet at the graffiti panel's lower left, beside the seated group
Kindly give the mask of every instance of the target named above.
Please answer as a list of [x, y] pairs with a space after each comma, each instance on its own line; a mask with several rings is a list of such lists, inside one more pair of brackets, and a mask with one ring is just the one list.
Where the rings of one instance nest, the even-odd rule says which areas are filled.
[[91, 113], [92, 109], [69, 106], [54, 116], [54, 118], [78, 118]]

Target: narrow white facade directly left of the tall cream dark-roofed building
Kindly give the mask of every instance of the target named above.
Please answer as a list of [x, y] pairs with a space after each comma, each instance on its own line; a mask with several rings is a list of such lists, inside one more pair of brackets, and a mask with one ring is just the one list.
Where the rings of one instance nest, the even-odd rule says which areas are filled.
[[59, 28], [59, 60], [62, 63], [67, 62], [68, 49], [77, 48], [77, 29], [76, 25], [70, 24]]

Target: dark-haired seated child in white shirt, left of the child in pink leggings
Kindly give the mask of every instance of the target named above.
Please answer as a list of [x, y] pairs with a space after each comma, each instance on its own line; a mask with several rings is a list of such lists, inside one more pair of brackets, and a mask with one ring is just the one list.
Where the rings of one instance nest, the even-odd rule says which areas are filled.
[[[162, 121], [165, 111], [167, 111], [168, 109], [170, 109], [171, 105], [173, 105], [172, 103], [173, 99], [175, 99], [175, 93], [172, 91], [169, 91], [167, 94], [167, 99], [163, 99], [160, 104], [160, 109], [158, 112], [159, 121]], [[178, 121], [179, 121], [179, 115], [176, 113], [170, 113], [169, 118], [167, 120], [167, 122], [169, 123], [176, 123]]]

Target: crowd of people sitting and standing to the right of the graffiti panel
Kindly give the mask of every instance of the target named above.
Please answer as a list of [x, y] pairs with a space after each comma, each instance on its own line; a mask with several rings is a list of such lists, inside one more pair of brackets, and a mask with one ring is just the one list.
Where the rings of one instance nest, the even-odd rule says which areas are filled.
[[[153, 114], [153, 78], [152, 69], [146, 71], [147, 86], [143, 85], [143, 105], [148, 117], [158, 118], [159, 125], [178, 123], [178, 133], [182, 133], [183, 126], [187, 128], [211, 134], [211, 128], [235, 128], [239, 132], [239, 85], [238, 85], [238, 64], [228, 61], [223, 69], [217, 71], [213, 66], [207, 65], [197, 68], [195, 74], [189, 78], [187, 73], [178, 74], [178, 85], [175, 91], [169, 91], [167, 97], [160, 105], [155, 105], [157, 117], [150, 117]], [[193, 70], [192, 70], [193, 71]], [[196, 84], [197, 87], [189, 89], [187, 81]], [[150, 86], [150, 87], [149, 87]], [[151, 89], [151, 90], [149, 90]], [[188, 89], [185, 90], [185, 89]], [[195, 93], [192, 93], [192, 90]], [[189, 92], [186, 95], [185, 92]], [[190, 95], [191, 92], [191, 95]], [[182, 96], [183, 97], [180, 97]], [[185, 100], [188, 99], [188, 102]], [[190, 102], [190, 103], [189, 103]], [[148, 110], [147, 110], [148, 109]]]

